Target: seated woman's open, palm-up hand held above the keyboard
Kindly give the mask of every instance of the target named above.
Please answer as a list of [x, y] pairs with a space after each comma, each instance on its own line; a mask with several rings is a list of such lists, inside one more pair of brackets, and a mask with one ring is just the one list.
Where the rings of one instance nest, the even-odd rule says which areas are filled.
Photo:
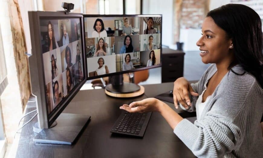
[[145, 113], [148, 111], [160, 112], [161, 101], [156, 98], [147, 98], [141, 101], [132, 102], [130, 105], [124, 104], [120, 109], [131, 113]]

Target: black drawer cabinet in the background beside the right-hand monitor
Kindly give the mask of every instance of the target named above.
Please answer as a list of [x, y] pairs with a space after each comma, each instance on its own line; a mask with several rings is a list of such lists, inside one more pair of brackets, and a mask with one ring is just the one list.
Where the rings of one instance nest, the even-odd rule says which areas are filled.
[[162, 83], [183, 77], [184, 54], [183, 51], [162, 48]]

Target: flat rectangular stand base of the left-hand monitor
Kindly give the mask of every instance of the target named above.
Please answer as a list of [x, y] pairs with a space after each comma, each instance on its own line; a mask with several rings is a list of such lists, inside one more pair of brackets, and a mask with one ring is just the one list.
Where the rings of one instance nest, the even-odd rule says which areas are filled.
[[38, 133], [34, 137], [35, 143], [72, 145], [80, 136], [90, 120], [90, 116], [80, 114], [61, 113], [49, 129], [38, 128], [38, 122], [33, 130]]

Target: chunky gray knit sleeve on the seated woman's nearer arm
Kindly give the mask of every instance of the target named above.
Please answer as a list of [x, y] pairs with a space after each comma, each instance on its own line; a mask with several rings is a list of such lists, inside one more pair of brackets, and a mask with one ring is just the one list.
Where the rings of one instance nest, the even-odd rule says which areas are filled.
[[251, 103], [257, 100], [255, 98], [260, 100], [260, 95], [258, 91], [251, 91], [255, 89], [255, 79], [249, 78], [254, 82], [249, 84], [249, 80], [240, 78], [230, 77], [229, 83], [220, 83], [223, 84], [218, 90], [221, 92], [213, 97], [208, 107], [211, 110], [203, 119], [196, 120], [194, 124], [183, 119], [175, 127], [174, 133], [195, 156], [223, 157], [242, 144], [248, 111], [259, 108], [256, 102], [254, 105]]

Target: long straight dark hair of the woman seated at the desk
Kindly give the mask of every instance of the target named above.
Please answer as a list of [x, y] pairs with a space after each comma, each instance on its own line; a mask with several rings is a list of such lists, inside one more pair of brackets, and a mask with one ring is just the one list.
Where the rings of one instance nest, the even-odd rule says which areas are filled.
[[235, 59], [228, 69], [237, 74], [232, 67], [240, 64], [263, 87], [262, 24], [259, 15], [248, 6], [228, 4], [210, 11], [206, 17], [213, 18], [216, 25], [226, 31], [228, 38], [232, 38]]

